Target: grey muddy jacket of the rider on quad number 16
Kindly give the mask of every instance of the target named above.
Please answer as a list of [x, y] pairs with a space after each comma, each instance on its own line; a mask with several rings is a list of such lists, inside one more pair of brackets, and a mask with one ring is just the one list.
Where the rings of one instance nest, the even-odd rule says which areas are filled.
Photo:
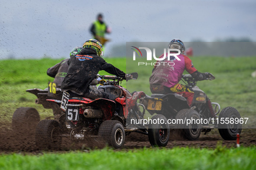
[[54, 83], [56, 84], [57, 88], [60, 88], [64, 77], [68, 72], [68, 59], [62, 60], [60, 63], [52, 66], [51, 68], [47, 69], [47, 75], [51, 76], [54, 79]]

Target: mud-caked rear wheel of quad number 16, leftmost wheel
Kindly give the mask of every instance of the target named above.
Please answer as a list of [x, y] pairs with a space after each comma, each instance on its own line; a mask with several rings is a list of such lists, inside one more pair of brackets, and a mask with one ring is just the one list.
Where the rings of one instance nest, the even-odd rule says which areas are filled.
[[17, 137], [27, 138], [35, 135], [36, 125], [40, 121], [38, 111], [33, 107], [19, 107], [13, 113], [12, 128]]

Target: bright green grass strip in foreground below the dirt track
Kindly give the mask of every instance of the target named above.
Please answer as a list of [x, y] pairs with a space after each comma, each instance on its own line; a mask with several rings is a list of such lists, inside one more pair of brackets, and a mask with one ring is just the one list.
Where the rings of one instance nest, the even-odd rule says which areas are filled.
[[42, 155], [0, 155], [1, 170], [255, 170], [256, 147], [108, 149]]

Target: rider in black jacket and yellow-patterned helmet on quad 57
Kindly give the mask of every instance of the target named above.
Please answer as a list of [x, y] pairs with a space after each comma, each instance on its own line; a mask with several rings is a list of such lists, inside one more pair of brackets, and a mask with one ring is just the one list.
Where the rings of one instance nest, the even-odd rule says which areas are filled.
[[85, 41], [79, 54], [68, 60], [68, 73], [62, 82], [62, 91], [67, 91], [71, 97], [87, 97], [91, 99], [109, 98], [105, 92], [90, 90], [90, 82], [95, 79], [100, 70], [119, 77], [126, 77], [125, 72], [107, 63], [101, 56], [102, 45], [95, 39]]

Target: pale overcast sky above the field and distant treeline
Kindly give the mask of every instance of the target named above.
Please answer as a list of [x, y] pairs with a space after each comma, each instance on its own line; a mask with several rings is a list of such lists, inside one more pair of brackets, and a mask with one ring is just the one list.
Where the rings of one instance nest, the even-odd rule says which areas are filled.
[[1, 0], [0, 59], [69, 57], [91, 38], [98, 13], [111, 47], [129, 41], [256, 41], [255, 0]]

